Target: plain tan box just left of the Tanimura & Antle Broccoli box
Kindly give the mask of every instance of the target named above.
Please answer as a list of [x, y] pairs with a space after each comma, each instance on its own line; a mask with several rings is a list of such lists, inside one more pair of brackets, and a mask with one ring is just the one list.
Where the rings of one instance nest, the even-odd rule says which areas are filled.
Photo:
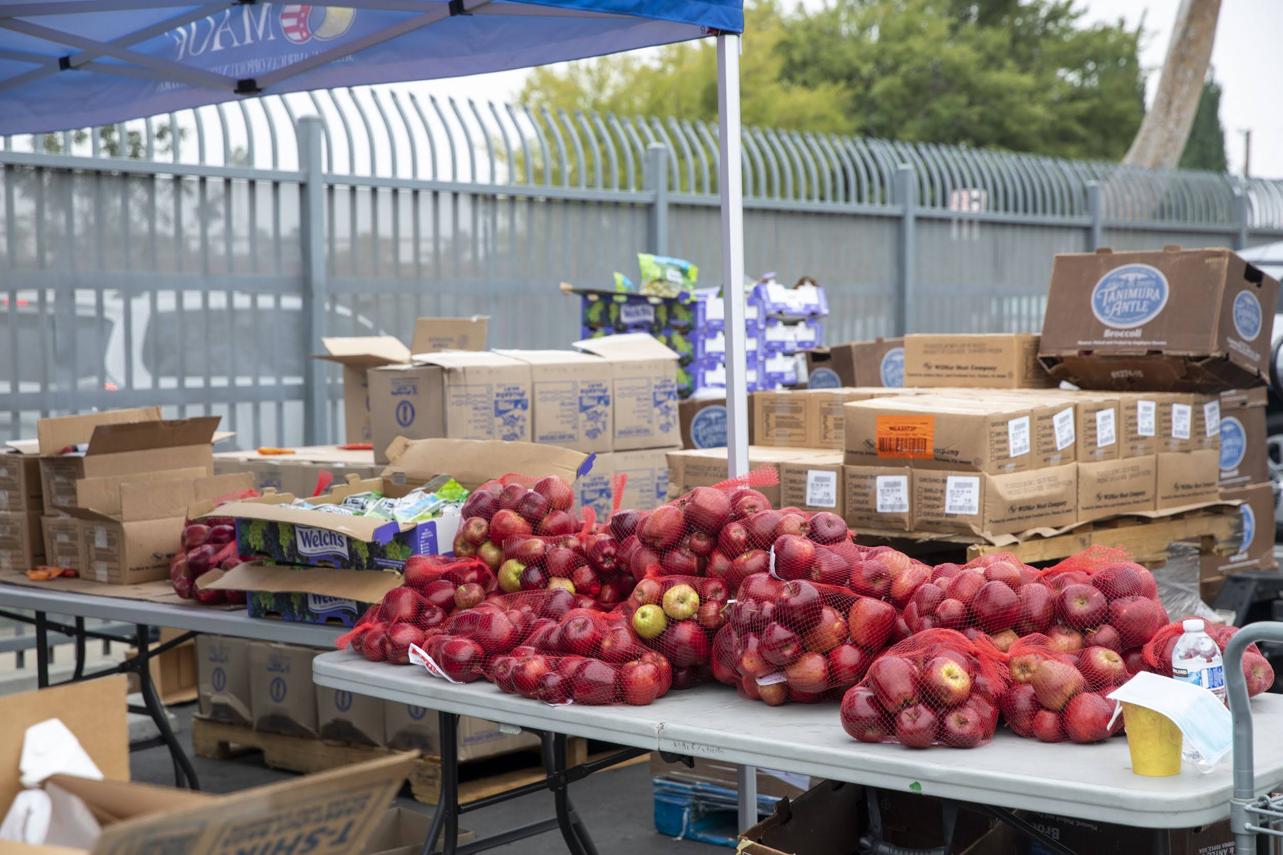
[[1047, 388], [1057, 382], [1038, 364], [1030, 333], [905, 336], [905, 385]]

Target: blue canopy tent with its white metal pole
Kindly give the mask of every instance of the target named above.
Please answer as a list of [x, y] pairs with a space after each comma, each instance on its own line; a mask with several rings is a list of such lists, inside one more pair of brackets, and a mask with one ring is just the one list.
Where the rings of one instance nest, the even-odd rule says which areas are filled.
[[[717, 38], [729, 474], [748, 470], [743, 0], [0, 0], [0, 136], [253, 95], [458, 77]], [[319, 147], [319, 133], [310, 141]], [[316, 163], [316, 160], [313, 160]], [[321, 215], [319, 200], [309, 215]], [[319, 310], [323, 310], [319, 309]], [[321, 390], [313, 388], [314, 401]], [[740, 770], [740, 827], [757, 822]]]

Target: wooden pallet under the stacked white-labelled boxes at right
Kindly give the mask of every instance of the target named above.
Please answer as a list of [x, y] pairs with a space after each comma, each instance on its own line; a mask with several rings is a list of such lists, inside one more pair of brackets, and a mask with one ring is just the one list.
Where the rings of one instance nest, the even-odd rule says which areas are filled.
[[[1168, 547], [1175, 541], [1198, 545], [1203, 552], [1229, 554], [1242, 532], [1238, 509], [1232, 506], [1203, 508], [1171, 517], [1148, 519], [1146, 517], [1115, 517], [1085, 523], [1073, 531], [1051, 537], [1030, 537], [1021, 544], [996, 546], [970, 535], [935, 535], [915, 537], [905, 532], [865, 531], [857, 537], [860, 544], [888, 544], [903, 552], [946, 561], [964, 558], [970, 561], [988, 552], [1014, 552], [1025, 564], [1058, 561], [1082, 550], [1101, 546], [1121, 546], [1141, 564], [1166, 560]], [[925, 560], [925, 559], [924, 559]]]

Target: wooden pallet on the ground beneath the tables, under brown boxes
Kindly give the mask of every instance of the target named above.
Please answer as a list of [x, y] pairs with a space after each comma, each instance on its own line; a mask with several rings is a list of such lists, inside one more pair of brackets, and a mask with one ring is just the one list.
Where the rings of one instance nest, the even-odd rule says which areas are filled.
[[[227, 760], [259, 751], [268, 767], [302, 773], [325, 772], [394, 754], [391, 749], [263, 733], [201, 718], [191, 720], [191, 746], [198, 756], [214, 760]], [[570, 765], [577, 765], [606, 755], [589, 755], [588, 741], [571, 737], [566, 756]], [[647, 761], [648, 756], [642, 756], [620, 765]], [[475, 801], [543, 778], [544, 770], [538, 750], [463, 763], [459, 767], [459, 801]], [[440, 758], [421, 756], [412, 767], [408, 781], [416, 801], [435, 805], [441, 793]]]

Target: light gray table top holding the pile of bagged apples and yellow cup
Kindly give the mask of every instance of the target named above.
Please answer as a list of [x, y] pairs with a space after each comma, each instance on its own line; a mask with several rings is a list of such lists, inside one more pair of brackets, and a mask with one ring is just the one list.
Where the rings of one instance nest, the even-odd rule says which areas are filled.
[[[1229, 815], [1228, 760], [1206, 776], [1187, 764], [1179, 776], [1147, 778], [1132, 773], [1124, 737], [1048, 745], [1002, 729], [980, 749], [917, 751], [856, 742], [833, 704], [772, 708], [726, 686], [670, 692], [649, 706], [549, 706], [485, 682], [453, 685], [352, 652], [322, 654], [312, 669], [319, 686], [448, 713], [1002, 808], [1143, 828], [1187, 828]], [[1265, 792], [1283, 782], [1283, 740], [1273, 738], [1283, 728], [1283, 696], [1262, 695], [1252, 710], [1256, 783]]]

